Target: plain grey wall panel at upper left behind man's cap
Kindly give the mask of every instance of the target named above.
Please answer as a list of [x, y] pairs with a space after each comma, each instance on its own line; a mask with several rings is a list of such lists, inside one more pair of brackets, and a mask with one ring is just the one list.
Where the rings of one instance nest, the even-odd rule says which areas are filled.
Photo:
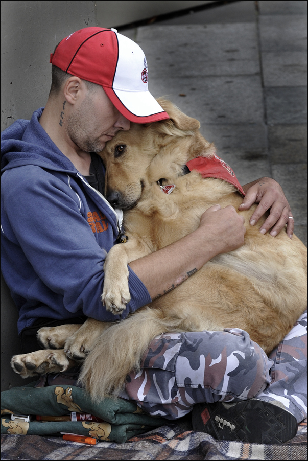
[[96, 25], [95, 2], [1, 2], [1, 130], [45, 104], [56, 44]]

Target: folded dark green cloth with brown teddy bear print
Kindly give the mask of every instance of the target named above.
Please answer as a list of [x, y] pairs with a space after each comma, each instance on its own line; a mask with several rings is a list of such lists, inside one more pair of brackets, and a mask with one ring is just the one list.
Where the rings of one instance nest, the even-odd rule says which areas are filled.
[[[60, 435], [60, 432], [69, 432], [97, 440], [124, 443], [130, 437], [166, 424], [164, 418], [149, 416], [129, 400], [106, 398], [97, 403], [80, 387], [34, 387], [35, 384], [13, 387], [1, 393], [2, 434]], [[12, 413], [35, 418], [38, 414], [61, 416], [69, 412], [93, 414], [104, 421], [27, 422], [11, 419]]]

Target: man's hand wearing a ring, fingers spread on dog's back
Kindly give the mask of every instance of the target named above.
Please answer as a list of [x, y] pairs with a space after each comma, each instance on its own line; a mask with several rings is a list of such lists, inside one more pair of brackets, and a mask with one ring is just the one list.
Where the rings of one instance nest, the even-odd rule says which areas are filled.
[[291, 208], [281, 186], [272, 178], [261, 178], [243, 186], [246, 196], [239, 210], [249, 210], [253, 203], [258, 203], [255, 212], [250, 218], [250, 225], [254, 225], [267, 210], [270, 215], [260, 228], [266, 234], [272, 228], [270, 235], [275, 237], [287, 224], [286, 232], [290, 239], [294, 232], [294, 219]]

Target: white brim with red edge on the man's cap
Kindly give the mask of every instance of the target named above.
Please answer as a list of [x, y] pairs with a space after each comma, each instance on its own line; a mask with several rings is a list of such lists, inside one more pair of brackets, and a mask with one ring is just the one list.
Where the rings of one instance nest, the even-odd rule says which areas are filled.
[[152, 123], [169, 119], [150, 91], [120, 91], [104, 87], [110, 101], [130, 122]]

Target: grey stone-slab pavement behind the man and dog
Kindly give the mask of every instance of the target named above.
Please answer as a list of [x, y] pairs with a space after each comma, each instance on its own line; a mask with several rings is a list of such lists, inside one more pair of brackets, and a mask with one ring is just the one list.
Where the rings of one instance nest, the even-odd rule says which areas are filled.
[[306, 21], [305, 1], [248, 0], [121, 33], [145, 51], [154, 96], [200, 120], [242, 184], [281, 184], [307, 245]]

